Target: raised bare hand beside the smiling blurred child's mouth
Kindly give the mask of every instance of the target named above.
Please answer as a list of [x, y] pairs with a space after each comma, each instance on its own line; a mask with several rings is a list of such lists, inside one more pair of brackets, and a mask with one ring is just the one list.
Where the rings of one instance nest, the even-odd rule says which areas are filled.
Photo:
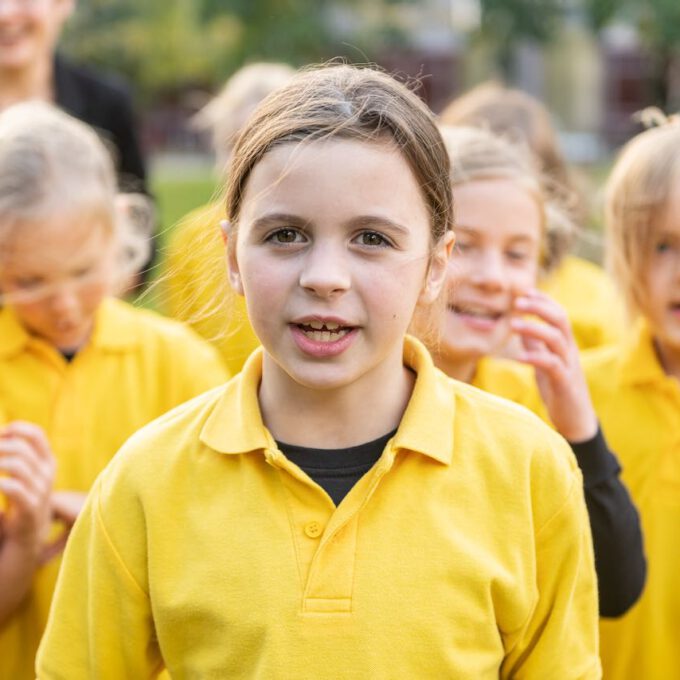
[[[523, 346], [517, 359], [535, 368], [536, 382], [555, 428], [570, 442], [591, 439], [597, 433], [597, 416], [565, 311], [536, 290], [517, 297], [515, 310], [522, 315], [510, 322]], [[526, 319], [527, 314], [540, 321]]]

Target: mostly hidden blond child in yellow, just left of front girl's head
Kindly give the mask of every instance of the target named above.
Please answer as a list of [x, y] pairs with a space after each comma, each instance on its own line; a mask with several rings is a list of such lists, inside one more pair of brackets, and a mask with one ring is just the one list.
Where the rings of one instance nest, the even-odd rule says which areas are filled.
[[[270, 92], [286, 83], [294, 70], [286, 64], [255, 63], [237, 71], [195, 117], [197, 128], [209, 131], [220, 177], [238, 133]], [[165, 310], [188, 323], [220, 350], [232, 373], [257, 347], [243, 299], [231, 294], [226, 276], [224, 244], [218, 225], [224, 215], [219, 203], [187, 215], [175, 228], [166, 253]]]

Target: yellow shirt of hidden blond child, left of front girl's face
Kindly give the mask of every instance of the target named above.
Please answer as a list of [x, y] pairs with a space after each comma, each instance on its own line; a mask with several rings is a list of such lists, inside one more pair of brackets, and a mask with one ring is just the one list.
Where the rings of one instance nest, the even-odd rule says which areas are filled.
[[243, 297], [226, 276], [219, 222], [224, 208], [212, 204], [189, 213], [172, 234], [163, 276], [163, 310], [188, 323], [219, 350], [232, 375], [260, 344]]

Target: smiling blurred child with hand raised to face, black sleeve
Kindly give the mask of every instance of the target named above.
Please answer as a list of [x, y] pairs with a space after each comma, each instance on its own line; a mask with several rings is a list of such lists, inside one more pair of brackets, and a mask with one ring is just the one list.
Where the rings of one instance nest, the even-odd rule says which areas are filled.
[[[457, 242], [435, 363], [527, 406], [570, 442], [593, 530], [600, 614], [620, 616], [644, 585], [639, 518], [599, 432], [566, 315], [535, 290], [538, 272], [550, 267], [547, 241], [559, 207], [507, 141], [474, 128], [441, 132], [451, 159]], [[564, 219], [559, 224], [564, 229]], [[527, 365], [494, 356], [513, 335]]]

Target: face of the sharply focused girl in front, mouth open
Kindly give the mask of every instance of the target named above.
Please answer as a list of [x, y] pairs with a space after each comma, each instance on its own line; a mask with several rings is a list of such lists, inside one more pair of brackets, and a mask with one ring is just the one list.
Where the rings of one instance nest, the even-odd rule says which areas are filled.
[[416, 303], [443, 283], [446, 245], [430, 266], [430, 240], [427, 207], [398, 151], [285, 144], [248, 180], [230, 279], [274, 370], [335, 389], [400, 370]]

